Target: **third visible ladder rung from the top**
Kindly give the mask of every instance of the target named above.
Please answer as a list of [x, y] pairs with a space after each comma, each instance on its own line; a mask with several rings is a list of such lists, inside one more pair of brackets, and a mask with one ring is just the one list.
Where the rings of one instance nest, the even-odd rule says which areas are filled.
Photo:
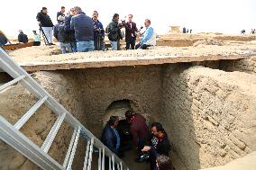
[[59, 131], [59, 128], [62, 124], [62, 122], [64, 121], [65, 119], [65, 116], [66, 116], [66, 112], [64, 112], [62, 115], [59, 115], [57, 121], [55, 121], [54, 125], [52, 126], [47, 138], [44, 140], [42, 146], [41, 146], [41, 149], [47, 153], [50, 149], [50, 146], [53, 142], [53, 140], [55, 139], [58, 131]]

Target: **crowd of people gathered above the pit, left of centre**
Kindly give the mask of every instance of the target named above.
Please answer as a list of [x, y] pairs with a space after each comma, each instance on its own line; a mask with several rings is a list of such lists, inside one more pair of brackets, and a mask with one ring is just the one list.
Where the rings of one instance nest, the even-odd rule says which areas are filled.
[[[156, 32], [151, 27], [151, 20], [146, 19], [144, 26], [137, 28], [133, 22], [133, 14], [128, 14], [127, 22], [119, 19], [119, 14], [114, 13], [112, 22], [106, 27], [98, 20], [99, 13], [94, 11], [90, 16], [75, 6], [68, 13], [64, 6], [57, 13], [57, 24], [53, 24], [48, 15], [48, 9], [42, 7], [37, 13], [36, 20], [39, 23], [39, 31], [33, 31], [34, 46], [41, 45], [41, 39], [45, 45], [55, 45], [53, 37], [59, 42], [62, 54], [70, 52], [87, 52], [92, 50], [105, 50], [105, 36], [107, 36], [112, 50], [120, 50], [120, 40], [125, 39], [125, 49], [148, 49], [156, 45]], [[125, 33], [121, 29], [125, 29]], [[136, 41], [141, 37], [139, 41]], [[18, 40], [27, 43], [28, 37], [20, 30]], [[0, 46], [7, 44], [8, 40], [4, 32], [0, 31]], [[137, 44], [136, 44], [137, 42]]]

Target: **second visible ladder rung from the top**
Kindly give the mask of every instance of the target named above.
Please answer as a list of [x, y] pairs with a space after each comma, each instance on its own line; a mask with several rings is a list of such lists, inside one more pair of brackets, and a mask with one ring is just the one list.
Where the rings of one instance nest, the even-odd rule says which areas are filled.
[[46, 100], [47, 96], [43, 97], [40, 101], [35, 103], [32, 108], [28, 112], [26, 112], [19, 121], [14, 124], [14, 128], [16, 130], [20, 130], [23, 125], [32, 117], [33, 113], [35, 113]]

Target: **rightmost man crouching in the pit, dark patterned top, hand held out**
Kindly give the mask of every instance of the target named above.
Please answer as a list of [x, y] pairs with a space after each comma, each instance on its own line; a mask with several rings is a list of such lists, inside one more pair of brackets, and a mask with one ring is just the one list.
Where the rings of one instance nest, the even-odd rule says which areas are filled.
[[167, 133], [160, 122], [151, 124], [151, 146], [142, 148], [142, 152], [150, 153], [151, 170], [157, 170], [156, 158], [159, 155], [169, 156], [170, 145]]

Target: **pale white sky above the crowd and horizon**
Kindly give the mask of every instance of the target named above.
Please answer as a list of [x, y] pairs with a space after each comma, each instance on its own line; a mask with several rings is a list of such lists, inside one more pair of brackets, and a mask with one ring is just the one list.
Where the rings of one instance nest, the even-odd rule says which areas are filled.
[[160, 34], [169, 31], [170, 25], [186, 26], [196, 32], [224, 33], [256, 28], [256, 0], [6, 0], [1, 2], [0, 30], [7, 36], [15, 36], [20, 29], [31, 34], [38, 29], [35, 16], [42, 6], [48, 8], [51, 20], [56, 23], [61, 5], [66, 6], [66, 10], [78, 5], [87, 15], [97, 10], [104, 26], [114, 13], [119, 13], [121, 18], [133, 13], [138, 26], [149, 18]]

